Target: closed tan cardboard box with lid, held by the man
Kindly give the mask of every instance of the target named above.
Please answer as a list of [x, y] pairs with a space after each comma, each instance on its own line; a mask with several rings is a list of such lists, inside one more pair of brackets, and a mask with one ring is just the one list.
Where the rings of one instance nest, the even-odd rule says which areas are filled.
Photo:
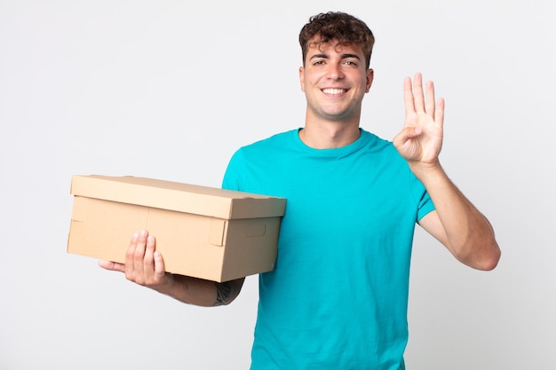
[[68, 253], [119, 263], [155, 235], [167, 272], [214, 281], [274, 269], [286, 200], [144, 177], [74, 176]]

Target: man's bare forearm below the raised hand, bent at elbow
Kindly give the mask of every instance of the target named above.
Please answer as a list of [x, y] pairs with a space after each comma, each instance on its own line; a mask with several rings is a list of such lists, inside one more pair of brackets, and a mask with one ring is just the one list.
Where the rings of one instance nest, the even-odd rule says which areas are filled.
[[440, 164], [412, 170], [425, 185], [440, 219], [442, 230], [435, 236], [462, 263], [480, 270], [496, 267], [500, 249], [488, 219], [457, 189]]

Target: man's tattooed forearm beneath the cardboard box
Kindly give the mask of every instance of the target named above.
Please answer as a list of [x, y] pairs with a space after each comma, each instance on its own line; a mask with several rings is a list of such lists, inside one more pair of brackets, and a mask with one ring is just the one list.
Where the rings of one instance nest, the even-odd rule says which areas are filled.
[[244, 279], [216, 282], [182, 275], [172, 275], [171, 284], [157, 287], [156, 291], [180, 302], [212, 307], [226, 305], [239, 295]]

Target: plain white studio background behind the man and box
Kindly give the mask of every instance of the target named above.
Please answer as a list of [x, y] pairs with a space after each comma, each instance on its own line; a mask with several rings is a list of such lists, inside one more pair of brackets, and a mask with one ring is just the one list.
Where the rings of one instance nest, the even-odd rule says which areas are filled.
[[363, 128], [393, 138], [403, 77], [434, 80], [441, 161], [503, 249], [477, 272], [417, 232], [408, 368], [556, 368], [550, 0], [0, 0], [1, 369], [249, 366], [257, 278], [203, 309], [68, 255], [70, 179], [219, 186], [239, 146], [303, 125], [298, 32], [330, 10], [377, 37]]

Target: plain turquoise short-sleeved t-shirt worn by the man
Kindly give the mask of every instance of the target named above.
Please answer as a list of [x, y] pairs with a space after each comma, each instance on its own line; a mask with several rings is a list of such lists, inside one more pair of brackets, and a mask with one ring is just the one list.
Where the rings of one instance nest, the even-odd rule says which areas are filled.
[[361, 130], [314, 149], [290, 130], [240, 148], [223, 187], [287, 199], [251, 369], [403, 369], [413, 234], [434, 207], [393, 144]]

